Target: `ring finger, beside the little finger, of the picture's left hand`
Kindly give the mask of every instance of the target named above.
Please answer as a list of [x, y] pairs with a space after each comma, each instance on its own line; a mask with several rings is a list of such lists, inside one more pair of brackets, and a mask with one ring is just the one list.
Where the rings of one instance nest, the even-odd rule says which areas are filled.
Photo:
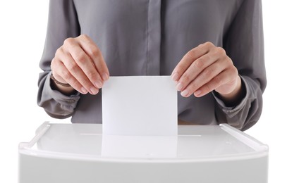
[[[83, 88], [90, 92], [90, 94], [97, 94], [99, 92], [99, 89], [95, 87], [92, 82], [90, 82], [85, 72], [79, 67], [78, 63], [74, 60], [70, 53], [63, 54], [59, 58], [63, 62], [63, 65], [65, 65], [69, 74], [71, 74], [75, 80], [77, 80], [83, 86]], [[69, 82], [69, 84], [71, 83]]]

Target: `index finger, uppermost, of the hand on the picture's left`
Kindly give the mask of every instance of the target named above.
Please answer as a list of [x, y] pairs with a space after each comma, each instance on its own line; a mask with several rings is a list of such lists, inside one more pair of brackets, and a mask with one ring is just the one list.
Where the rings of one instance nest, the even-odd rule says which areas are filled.
[[92, 62], [94, 63], [97, 72], [99, 72], [99, 75], [101, 76], [102, 80], [103, 81], [108, 80], [109, 70], [106, 66], [106, 62], [104, 61], [104, 57], [102, 56], [102, 52], [99, 50], [97, 45], [92, 41], [92, 39], [90, 39], [90, 37], [87, 37], [87, 35], [83, 34], [79, 37], [79, 39], [83, 40], [80, 41], [80, 46], [92, 59]]

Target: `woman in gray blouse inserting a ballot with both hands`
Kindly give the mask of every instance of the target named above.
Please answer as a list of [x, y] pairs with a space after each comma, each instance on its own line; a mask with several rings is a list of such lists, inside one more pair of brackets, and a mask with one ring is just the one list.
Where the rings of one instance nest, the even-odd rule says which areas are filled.
[[51, 0], [37, 103], [54, 118], [102, 122], [109, 76], [171, 75], [182, 124], [239, 130], [267, 84], [259, 0]]

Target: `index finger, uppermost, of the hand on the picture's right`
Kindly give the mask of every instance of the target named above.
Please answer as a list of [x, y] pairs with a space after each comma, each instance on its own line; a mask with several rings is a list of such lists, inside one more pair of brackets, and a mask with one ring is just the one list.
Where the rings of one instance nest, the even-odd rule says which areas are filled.
[[188, 67], [193, 63], [197, 58], [200, 58], [214, 46], [212, 43], [205, 43], [200, 44], [199, 46], [195, 47], [194, 49], [191, 49], [188, 51], [188, 53], [183, 56], [181, 61], [176, 65], [176, 68], [174, 68], [173, 72], [171, 73], [171, 77], [174, 81], [178, 81], [179, 78], [183, 75], [185, 70], [188, 69]]

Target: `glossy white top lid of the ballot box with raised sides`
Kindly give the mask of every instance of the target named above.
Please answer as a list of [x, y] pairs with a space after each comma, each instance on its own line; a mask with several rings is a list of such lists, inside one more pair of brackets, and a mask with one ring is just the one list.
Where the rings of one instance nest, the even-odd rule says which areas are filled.
[[236, 160], [267, 156], [268, 146], [229, 125], [179, 125], [178, 136], [102, 135], [99, 124], [44, 122], [19, 153], [45, 158], [120, 161]]

